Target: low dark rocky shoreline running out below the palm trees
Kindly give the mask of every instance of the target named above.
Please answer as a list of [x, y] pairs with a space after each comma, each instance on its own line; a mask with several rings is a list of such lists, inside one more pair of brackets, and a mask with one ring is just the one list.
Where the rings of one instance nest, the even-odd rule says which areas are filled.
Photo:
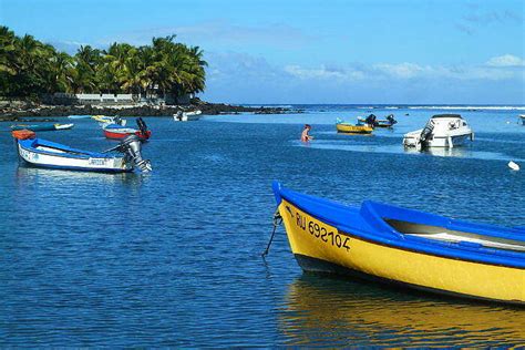
[[0, 106], [0, 122], [23, 122], [23, 119], [65, 117], [69, 115], [119, 115], [142, 117], [172, 117], [177, 112], [202, 111], [203, 115], [219, 114], [288, 114], [302, 113], [301, 110], [287, 107], [250, 107], [243, 105], [230, 105], [225, 103], [200, 102], [188, 105], [49, 105], [24, 101], [12, 101]]

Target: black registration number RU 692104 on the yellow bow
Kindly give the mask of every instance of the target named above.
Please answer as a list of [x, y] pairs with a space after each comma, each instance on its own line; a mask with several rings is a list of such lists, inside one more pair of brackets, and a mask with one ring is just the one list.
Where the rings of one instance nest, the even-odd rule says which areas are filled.
[[333, 231], [330, 227], [326, 227], [322, 224], [318, 224], [310, 217], [286, 206], [287, 212], [291, 215], [291, 222], [297, 228], [311, 235], [312, 237], [321, 240], [327, 245], [331, 245], [337, 248], [350, 250], [350, 238]]

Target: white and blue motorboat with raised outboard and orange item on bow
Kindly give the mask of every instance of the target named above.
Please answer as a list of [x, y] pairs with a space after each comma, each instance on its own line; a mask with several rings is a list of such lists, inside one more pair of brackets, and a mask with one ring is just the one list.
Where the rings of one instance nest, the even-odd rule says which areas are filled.
[[[20, 159], [31, 166], [102, 173], [125, 173], [135, 167], [151, 171], [150, 161], [142, 158], [141, 142], [136, 136], [130, 136], [106, 153], [97, 153], [37, 138], [34, 132], [28, 130], [13, 131], [12, 135]], [[110, 154], [111, 151], [121, 154]]]

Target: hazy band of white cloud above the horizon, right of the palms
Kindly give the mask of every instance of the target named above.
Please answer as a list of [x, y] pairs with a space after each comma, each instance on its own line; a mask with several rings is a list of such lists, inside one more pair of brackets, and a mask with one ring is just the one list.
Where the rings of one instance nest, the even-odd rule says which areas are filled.
[[[236, 52], [205, 53], [204, 99], [231, 103], [524, 103], [525, 70], [379, 62], [271, 63]], [[382, 101], [382, 102], [381, 102]], [[394, 102], [393, 102], [394, 101]], [[517, 102], [518, 101], [518, 102]]]

